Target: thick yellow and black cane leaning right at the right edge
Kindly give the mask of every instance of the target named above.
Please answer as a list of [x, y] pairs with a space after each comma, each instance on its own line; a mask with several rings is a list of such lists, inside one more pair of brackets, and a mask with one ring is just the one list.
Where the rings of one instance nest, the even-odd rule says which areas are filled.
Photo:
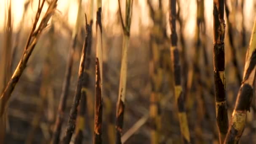
[[225, 144], [238, 144], [243, 134], [246, 123], [246, 112], [250, 111], [251, 100], [253, 97], [254, 80], [256, 73], [256, 17], [254, 20], [253, 31], [251, 34], [250, 45], [245, 58], [245, 71], [243, 82], [237, 94], [237, 100], [229, 129], [225, 139]]

